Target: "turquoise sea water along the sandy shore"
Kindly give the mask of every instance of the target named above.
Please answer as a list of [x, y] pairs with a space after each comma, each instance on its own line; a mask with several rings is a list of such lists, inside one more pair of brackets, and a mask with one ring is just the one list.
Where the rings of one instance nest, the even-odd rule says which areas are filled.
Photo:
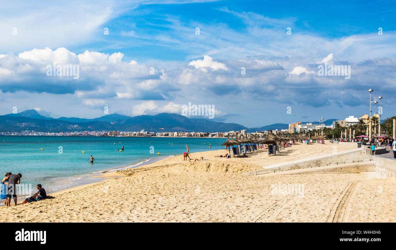
[[[32, 184], [32, 191], [39, 183], [53, 191], [72, 186], [82, 176], [181, 155], [186, 145], [190, 153], [224, 149], [224, 141], [188, 137], [0, 136], [0, 174], [21, 173], [21, 184]], [[123, 152], [116, 151], [122, 146]], [[92, 164], [90, 155], [95, 158]]]

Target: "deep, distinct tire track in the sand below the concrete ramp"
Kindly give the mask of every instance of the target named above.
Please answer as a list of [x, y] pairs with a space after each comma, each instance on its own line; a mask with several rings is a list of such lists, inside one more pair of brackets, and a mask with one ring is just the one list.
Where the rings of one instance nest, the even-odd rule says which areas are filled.
[[337, 201], [333, 205], [333, 208], [331, 208], [330, 213], [327, 216], [326, 222], [345, 222], [346, 217], [348, 217], [346, 207], [349, 204], [349, 199], [354, 193], [357, 184], [358, 181], [348, 182], [344, 190], [337, 198]]

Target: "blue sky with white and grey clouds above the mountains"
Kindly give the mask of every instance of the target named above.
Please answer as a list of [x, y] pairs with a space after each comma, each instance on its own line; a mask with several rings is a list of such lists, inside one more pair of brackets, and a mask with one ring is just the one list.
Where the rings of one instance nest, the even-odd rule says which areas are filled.
[[[395, 115], [395, 9], [394, 1], [0, 0], [0, 115], [182, 114], [191, 103], [211, 105], [213, 121], [261, 127], [360, 117], [371, 88], [385, 119]], [[52, 76], [54, 65], [74, 65], [74, 77]], [[350, 74], [321, 75], [321, 65]]]

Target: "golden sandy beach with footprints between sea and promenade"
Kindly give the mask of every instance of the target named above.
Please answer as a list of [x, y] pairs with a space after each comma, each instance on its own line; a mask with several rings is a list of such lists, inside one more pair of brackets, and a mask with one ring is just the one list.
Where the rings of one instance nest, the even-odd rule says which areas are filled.
[[[276, 156], [220, 158], [192, 152], [106, 173], [30, 204], [1, 207], [1, 222], [395, 222], [396, 179], [375, 172], [243, 176], [264, 166], [333, 152], [334, 144], [298, 144]], [[337, 152], [355, 148], [337, 144]], [[191, 149], [190, 151], [192, 151]], [[373, 169], [374, 170], [374, 169]], [[284, 194], [277, 186], [303, 192]], [[301, 191], [301, 190], [299, 190]], [[341, 203], [339, 202], [341, 200]], [[337, 202], [338, 201], [338, 202]]]

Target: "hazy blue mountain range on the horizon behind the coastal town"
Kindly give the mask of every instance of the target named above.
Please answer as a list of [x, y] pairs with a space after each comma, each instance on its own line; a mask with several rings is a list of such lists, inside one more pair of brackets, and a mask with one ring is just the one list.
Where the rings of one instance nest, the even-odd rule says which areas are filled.
[[[331, 125], [336, 119], [324, 121]], [[305, 124], [307, 122], [302, 122]], [[312, 124], [319, 124], [318, 121]], [[288, 129], [287, 123], [274, 123], [263, 127], [247, 128], [237, 123], [224, 123], [210, 119], [190, 119], [179, 114], [161, 113], [155, 116], [124, 116], [109, 114], [94, 119], [78, 117], [52, 118], [40, 115], [36, 110], [25, 110], [17, 114], [0, 116], [0, 132], [37, 131], [37, 132], [71, 132], [71, 131], [141, 131], [148, 132], [225, 132], [241, 131], [253, 133], [264, 130]], [[164, 130], [160, 130], [160, 128]]]

